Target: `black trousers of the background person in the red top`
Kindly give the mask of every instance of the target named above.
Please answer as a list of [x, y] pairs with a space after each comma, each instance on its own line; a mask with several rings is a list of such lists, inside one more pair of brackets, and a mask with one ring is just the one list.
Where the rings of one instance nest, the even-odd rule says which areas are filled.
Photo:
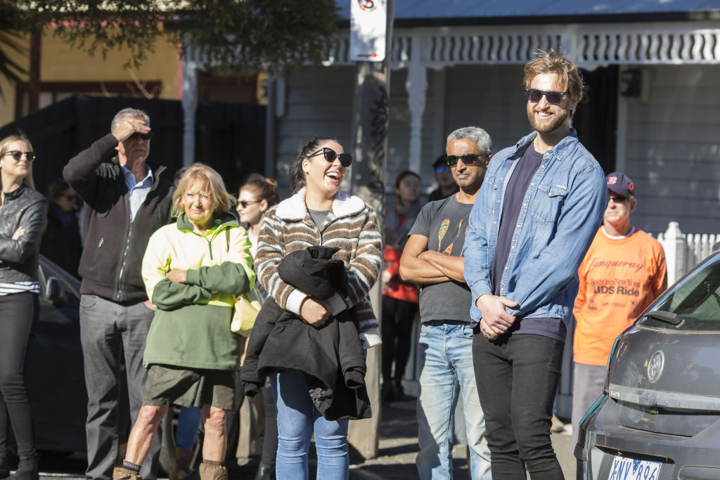
[[395, 383], [402, 381], [410, 356], [410, 333], [417, 311], [418, 304], [414, 302], [382, 296], [382, 383], [385, 385], [393, 380], [393, 361]]

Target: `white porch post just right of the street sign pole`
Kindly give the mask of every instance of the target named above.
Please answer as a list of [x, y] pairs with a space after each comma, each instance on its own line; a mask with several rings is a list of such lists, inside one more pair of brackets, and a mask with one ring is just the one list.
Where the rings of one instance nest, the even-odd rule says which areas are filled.
[[405, 90], [408, 91], [408, 107], [410, 109], [410, 158], [408, 169], [420, 173], [420, 149], [422, 148], [423, 113], [425, 112], [426, 91], [428, 89], [428, 72], [422, 64], [422, 37], [413, 36], [413, 55], [408, 65], [408, 79]]

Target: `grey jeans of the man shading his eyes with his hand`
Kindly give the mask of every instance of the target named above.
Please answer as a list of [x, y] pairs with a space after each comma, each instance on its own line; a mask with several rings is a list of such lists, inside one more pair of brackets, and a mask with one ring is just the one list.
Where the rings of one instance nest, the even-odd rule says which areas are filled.
[[[145, 339], [155, 313], [143, 303], [122, 305], [96, 295], [80, 298], [80, 341], [83, 347], [88, 418], [86, 479], [109, 480], [117, 460], [117, 409], [120, 396], [120, 355], [125, 354], [130, 422], [135, 425], [143, 406], [148, 371], [143, 367]], [[153, 480], [158, 472], [162, 435], [155, 435], [140, 475]], [[122, 438], [121, 441], [127, 441]]]

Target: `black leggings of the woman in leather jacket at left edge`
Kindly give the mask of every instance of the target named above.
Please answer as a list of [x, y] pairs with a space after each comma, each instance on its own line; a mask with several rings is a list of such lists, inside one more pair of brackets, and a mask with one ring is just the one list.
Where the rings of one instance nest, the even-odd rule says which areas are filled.
[[[7, 419], [21, 460], [35, 458], [32, 411], [25, 394], [23, 367], [32, 325], [37, 322], [37, 294], [0, 295], [0, 459], [7, 456]], [[8, 415], [9, 414], [9, 415]]]

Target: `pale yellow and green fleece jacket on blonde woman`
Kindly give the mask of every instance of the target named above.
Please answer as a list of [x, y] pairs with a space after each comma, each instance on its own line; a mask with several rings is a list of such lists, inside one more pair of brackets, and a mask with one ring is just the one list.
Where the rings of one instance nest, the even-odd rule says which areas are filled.
[[[143, 363], [237, 370], [242, 338], [230, 331], [235, 296], [253, 288], [250, 240], [232, 214], [222, 214], [205, 235], [185, 214], [150, 237], [143, 258], [148, 298], [157, 307]], [[186, 270], [184, 284], [167, 279]]]

